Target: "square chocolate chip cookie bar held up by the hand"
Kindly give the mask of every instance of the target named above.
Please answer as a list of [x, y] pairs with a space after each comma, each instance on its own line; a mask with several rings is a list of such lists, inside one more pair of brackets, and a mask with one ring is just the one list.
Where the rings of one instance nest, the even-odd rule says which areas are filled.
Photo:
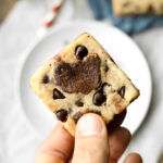
[[72, 135], [84, 114], [99, 114], [109, 124], [139, 96], [127, 75], [87, 33], [47, 61], [30, 86]]

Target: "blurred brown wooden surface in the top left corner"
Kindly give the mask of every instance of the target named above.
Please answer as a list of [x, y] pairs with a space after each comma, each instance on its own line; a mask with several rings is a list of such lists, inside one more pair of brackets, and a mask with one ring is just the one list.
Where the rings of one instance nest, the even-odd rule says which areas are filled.
[[0, 23], [5, 18], [17, 0], [0, 0]]

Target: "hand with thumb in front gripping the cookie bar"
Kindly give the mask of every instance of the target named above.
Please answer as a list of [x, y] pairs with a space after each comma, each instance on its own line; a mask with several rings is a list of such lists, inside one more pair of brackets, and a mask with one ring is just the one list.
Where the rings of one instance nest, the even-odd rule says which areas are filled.
[[[58, 123], [40, 147], [35, 163], [116, 163], [130, 140], [130, 133], [120, 127], [125, 114], [116, 115], [109, 131], [99, 115], [84, 115], [77, 123], [75, 140]], [[142, 159], [130, 153], [124, 163], [142, 163]]]

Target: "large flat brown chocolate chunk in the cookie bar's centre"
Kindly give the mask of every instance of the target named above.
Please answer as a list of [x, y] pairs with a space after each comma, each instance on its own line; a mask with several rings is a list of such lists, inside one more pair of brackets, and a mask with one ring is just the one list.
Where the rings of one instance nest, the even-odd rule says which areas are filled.
[[54, 70], [58, 86], [68, 93], [89, 93], [101, 86], [101, 60], [95, 53], [85, 61], [67, 63], [61, 61]]

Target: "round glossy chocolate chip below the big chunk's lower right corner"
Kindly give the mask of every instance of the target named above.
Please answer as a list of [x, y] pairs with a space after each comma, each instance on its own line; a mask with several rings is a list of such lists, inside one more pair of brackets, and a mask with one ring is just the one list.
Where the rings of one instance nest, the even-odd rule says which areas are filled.
[[106, 100], [106, 97], [103, 95], [103, 92], [100, 90], [93, 95], [92, 102], [96, 105], [101, 105]]

